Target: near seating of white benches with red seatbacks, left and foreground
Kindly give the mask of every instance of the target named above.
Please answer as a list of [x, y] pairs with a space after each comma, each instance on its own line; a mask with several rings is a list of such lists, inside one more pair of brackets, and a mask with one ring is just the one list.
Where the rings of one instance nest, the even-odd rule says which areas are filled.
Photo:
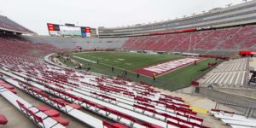
[[[67, 126], [69, 121], [61, 112], [99, 128], [207, 127], [180, 97], [168, 96], [147, 84], [49, 65], [44, 61], [52, 58], [44, 56], [56, 50], [49, 44], [34, 44], [11, 35], [0, 39], [0, 94], [38, 126]], [[45, 106], [33, 106], [16, 96], [10, 91], [14, 87]], [[82, 108], [117, 123], [97, 119]]]

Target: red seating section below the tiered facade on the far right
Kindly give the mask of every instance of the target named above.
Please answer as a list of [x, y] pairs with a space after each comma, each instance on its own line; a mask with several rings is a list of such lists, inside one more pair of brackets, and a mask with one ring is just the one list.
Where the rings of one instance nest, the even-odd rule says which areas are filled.
[[129, 38], [122, 49], [190, 52], [256, 49], [256, 26]]

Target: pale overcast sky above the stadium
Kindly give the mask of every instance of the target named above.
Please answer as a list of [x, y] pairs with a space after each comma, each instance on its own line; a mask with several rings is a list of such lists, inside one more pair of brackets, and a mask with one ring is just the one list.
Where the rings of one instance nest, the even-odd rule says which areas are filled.
[[33, 32], [47, 35], [46, 23], [131, 26], [201, 13], [242, 0], [0, 0], [6, 15]]

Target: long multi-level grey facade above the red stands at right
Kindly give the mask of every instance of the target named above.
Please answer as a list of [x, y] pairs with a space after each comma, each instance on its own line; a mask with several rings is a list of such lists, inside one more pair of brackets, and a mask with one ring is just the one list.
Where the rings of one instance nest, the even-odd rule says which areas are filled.
[[240, 26], [256, 22], [256, 1], [241, 3], [224, 9], [211, 9], [200, 15], [177, 20], [167, 20], [147, 25], [104, 28], [99, 27], [101, 38], [151, 35], [152, 32], [166, 32], [189, 28], [211, 28]]

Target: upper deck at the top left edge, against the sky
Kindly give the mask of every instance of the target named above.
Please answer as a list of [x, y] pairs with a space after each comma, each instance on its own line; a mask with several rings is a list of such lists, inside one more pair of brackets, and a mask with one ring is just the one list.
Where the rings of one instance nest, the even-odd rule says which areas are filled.
[[0, 30], [22, 34], [35, 34], [35, 32], [32, 32], [24, 26], [20, 26], [15, 21], [10, 20], [8, 17], [3, 15], [0, 15]]

